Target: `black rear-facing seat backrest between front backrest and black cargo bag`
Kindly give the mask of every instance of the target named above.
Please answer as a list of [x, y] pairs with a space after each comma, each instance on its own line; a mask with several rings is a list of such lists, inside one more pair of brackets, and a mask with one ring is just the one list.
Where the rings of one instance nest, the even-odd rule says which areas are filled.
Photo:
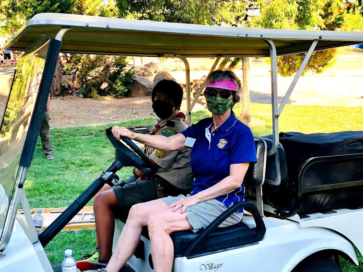
[[[258, 137], [258, 139], [264, 140], [268, 149], [272, 148], [272, 139], [268, 137]], [[280, 143], [276, 153], [266, 158], [265, 182], [273, 186], [285, 185], [287, 182], [286, 156], [284, 148]]]

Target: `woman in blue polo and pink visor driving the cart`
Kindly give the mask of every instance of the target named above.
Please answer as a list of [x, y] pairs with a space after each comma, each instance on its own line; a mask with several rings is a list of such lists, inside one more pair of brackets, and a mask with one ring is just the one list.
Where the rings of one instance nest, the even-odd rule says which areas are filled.
[[[212, 118], [203, 119], [177, 135], [137, 135], [125, 127], [113, 127], [118, 140], [126, 136], [164, 151], [193, 147], [191, 166], [195, 180], [191, 194], [132, 206], [109, 264], [98, 271], [118, 272], [134, 253], [143, 226], [148, 227], [155, 271], [171, 271], [172, 232], [203, 229], [229, 206], [243, 201], [244, 176], [249, 163], [257, 159], [250, 129], [232, 111], [239, 100], [241, 84], [232, 71], [213, 71], [208, 81], [204, 94]], [[239, 223], [242, 212], [233, 213], [220, 227]]]

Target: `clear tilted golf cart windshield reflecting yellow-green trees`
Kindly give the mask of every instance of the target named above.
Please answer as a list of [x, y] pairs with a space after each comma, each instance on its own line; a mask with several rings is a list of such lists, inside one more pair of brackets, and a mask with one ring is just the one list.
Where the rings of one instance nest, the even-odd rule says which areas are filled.
[[14, 187], [19, 161], [44, 71], [49, 37], [42, 36], [19, 59], [0, 127], [0, 232], [1, 239]]

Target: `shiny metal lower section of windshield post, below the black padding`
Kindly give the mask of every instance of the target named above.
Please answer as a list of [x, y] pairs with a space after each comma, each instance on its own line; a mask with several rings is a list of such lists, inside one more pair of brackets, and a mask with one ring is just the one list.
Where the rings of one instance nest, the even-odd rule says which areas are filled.
[[5, 250], [10, 240], [10, 236], [15, 222], [16, 212], [19, 206], [20, 197], [21, 194], [23, 194], [24, 190], [23, 185], [25, 181], [26, 172], [28, 172], [28, 167], [21, 166], [18, 182], [16, 184], [16, 189], [14, 193], [14, 198], [9, 205], [8, 216], [4, 224], [3, 238], [0, 241], [0, 251]]

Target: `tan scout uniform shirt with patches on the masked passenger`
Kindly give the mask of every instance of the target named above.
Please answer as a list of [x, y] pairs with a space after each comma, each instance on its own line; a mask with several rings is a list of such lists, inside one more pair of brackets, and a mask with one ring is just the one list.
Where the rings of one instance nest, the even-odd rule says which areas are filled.
[[[161, 122], [158, 120], [154, 126], [155, 135], [170, 137], [187, 129], [187, 121], [178, 117], [180, 116], [179, 112], [176, 110], [168, 119]], [[180, 189], [189, 192], [192, 190], [193, 175], [190, 165], [190, 148], [182, 151], [163, 151], [151, 147], [145, 147], [145, 149], [146, 155], [160, 166], [156, 175]]]

